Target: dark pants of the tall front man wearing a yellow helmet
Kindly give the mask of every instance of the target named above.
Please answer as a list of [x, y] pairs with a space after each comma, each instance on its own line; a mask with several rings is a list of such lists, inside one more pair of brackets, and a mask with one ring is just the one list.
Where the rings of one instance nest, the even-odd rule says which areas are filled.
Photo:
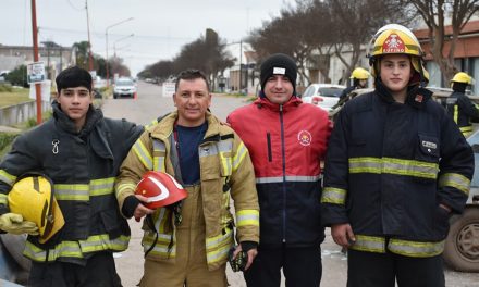
[[347, 287], [444, 287], [441, 255], [410, 258], [347, 251]]

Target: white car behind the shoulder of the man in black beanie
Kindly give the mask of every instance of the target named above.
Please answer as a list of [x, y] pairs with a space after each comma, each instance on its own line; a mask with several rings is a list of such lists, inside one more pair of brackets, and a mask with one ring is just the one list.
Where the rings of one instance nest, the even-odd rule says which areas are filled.
[[333, 84], [311, 84], [302, 96], [303, 102], [312, 103], [327, 112], [340, 100], [341, 92], [346, 88]]

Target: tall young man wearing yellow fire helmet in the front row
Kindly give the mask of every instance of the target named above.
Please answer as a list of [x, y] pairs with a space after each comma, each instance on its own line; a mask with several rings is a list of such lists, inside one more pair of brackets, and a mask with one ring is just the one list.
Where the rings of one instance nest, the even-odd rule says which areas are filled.
[[348, 101], [334, 123], [322, 219], [348, 248], [348, 287], [441, 287], [449, 217], [468, 198], [472, 150], [425, 88], [409, 29], [381, 28], [370, 64], [374, 91]]

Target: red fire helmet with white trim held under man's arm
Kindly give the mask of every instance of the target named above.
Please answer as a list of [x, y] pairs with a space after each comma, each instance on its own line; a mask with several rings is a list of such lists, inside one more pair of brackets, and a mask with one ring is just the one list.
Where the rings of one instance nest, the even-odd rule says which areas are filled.
[[148, 209], [158, 209], [173, 204], [188, 196], [173, 176], [156, 171], [143, 175], [135, 190], [136, 195], [148, 199], [144, 205]]

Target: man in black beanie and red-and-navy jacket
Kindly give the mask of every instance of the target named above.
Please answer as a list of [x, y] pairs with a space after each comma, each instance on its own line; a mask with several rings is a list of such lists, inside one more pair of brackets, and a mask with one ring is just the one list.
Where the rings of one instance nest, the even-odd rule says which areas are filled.
[[321, 167], [331, 133], [328, 113], [295, 96], [293, 59], [261, 64], [261, 96], [228, 122], [249, 150], [260, 205], [258, 257], [245, 272], [250, 286], [319, 286], [321, 280]]

